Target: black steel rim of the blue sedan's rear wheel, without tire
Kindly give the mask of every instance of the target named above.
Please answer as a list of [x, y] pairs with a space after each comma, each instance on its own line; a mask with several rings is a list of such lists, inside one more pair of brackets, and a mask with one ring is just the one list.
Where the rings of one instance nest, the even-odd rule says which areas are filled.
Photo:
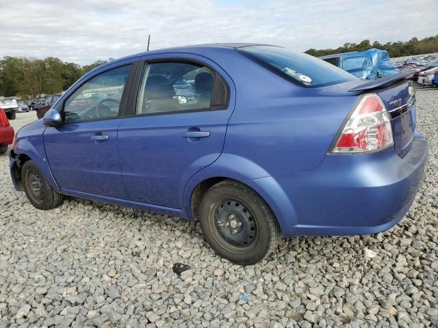
[[236, 197], [223, 197], [211, 206], [210, 226], [216, 242], [234, 254], [245, 254], [259, 238], [257, 219]]

